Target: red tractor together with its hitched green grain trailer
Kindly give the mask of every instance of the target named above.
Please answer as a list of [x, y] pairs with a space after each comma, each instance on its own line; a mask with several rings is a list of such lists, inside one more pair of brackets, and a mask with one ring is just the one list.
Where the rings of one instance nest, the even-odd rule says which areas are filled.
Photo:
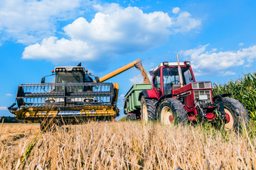
[[220, 121], [233, 129], [250, 119], [242, 103], [228, 98], [230, 94], [212, 96], [210, 81], [196, 81], [191, 62], [163, 62], [149, 73], [152, 84], [134, 84], [124, 96], [128, 120], [159, 120], [167, 125]]

